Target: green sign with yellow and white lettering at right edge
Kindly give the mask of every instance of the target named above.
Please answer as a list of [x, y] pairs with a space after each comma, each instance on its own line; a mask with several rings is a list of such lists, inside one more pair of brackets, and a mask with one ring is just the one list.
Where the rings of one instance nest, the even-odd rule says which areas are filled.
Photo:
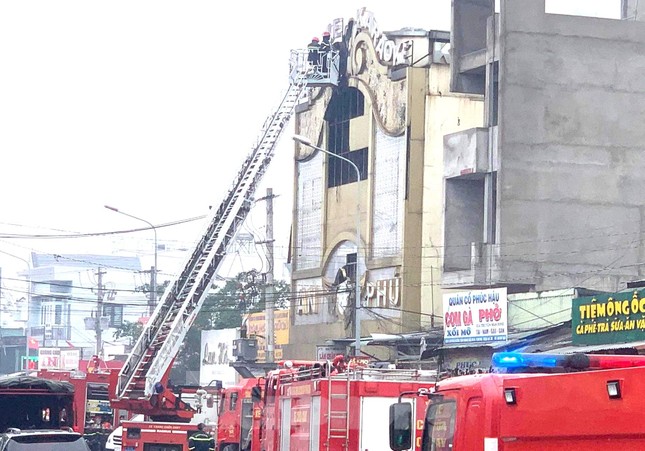
[[645, 289], [574, 299], [571, 327], [576, 345], [645, 340]]

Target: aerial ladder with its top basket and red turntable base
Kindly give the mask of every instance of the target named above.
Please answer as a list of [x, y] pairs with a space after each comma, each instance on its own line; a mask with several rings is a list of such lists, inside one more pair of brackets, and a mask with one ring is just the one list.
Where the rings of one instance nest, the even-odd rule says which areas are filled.
[[322, 65], [312, 66], [307, 56], [307, 50], [291, 52], [286, 93], [265, 121], [219, 208], [212, 210], [200, 240], [181, 273], [166, 288], [123, 368], [112, 375], [112, 408], [143, 414], [151, 420], [124, 423], [124, 450], [180, 451], [187, 443], [187, 434], [196, 429], [196, 425], [189, 424], [195, 409], [168, 387], [172, 362], [208, 295], [229, 245], [249, 214], [256, 188], [295, 106], [308, 88], [338, 83], [339, 52], [324, 55], [329, 58], [325, 72]]

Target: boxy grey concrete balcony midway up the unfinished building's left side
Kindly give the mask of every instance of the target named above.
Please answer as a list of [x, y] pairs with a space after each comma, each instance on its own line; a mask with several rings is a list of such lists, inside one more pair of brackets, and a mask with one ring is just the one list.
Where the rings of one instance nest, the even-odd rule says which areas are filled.
[[[489, 143], [492, 159], [488, 156]], [[445, 135], [443, 164], [444, 178], [481, 178], [497, 170], [497, 127], [471, 128]]]

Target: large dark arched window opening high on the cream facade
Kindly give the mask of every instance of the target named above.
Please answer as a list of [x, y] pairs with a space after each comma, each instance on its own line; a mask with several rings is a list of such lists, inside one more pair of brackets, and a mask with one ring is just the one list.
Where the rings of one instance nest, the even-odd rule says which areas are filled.
[[[356, 88], [340, 88], [334, 93], [325, 112], [327, 147], [336, 155], [354, 163], [360, 180], [367, 178], [368, 149], [351, 148], [351, 120], [365, 114], [365, 97]], [[347, 161], [328, 156], [327, 187], [356, 182], [356, 170]]]

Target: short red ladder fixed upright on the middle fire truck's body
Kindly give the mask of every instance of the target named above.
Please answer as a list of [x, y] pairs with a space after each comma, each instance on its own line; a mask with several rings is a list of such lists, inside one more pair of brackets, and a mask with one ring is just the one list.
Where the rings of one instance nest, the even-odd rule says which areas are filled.
[[329, 376], [327, 391], [327, 449], [349, 447], [350, 374]]

